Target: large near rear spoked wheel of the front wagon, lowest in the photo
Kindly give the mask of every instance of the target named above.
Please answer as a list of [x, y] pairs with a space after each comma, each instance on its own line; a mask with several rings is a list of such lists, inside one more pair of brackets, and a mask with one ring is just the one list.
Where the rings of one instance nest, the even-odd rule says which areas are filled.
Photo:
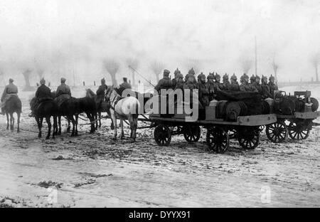
[[229, 135], [220, 127], [208, 129], [206, 142], [209, 149], [222, 154], [229, 148]]

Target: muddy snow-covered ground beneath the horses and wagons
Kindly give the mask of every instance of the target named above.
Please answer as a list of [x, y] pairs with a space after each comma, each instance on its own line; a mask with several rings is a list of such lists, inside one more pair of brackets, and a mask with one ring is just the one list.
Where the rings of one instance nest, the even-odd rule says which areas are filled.
[[[316, 85], [282, 90], [320, 98]], [[6, 131], [0, 117], [0, 206], [320, 206], [319, 127], [304, 141], [282, 144], [262, 133], [252, 151], [232, 140], [225, 154], [206, 150], [206, 129], [194, 144], [174, 136], [169, 147], [158, 147], [153, 129], [139, 129], [134, 144], [114, 142], [110, 120], [95, 134], [80, 126], [79, 137], [70, 137], [63, 122], [63, 134], [46, 140], [27, 116], [33, 94], [19, 93], [20, 133]], [[85, 88], [73, 88], [73, 95], [84, 96]]]

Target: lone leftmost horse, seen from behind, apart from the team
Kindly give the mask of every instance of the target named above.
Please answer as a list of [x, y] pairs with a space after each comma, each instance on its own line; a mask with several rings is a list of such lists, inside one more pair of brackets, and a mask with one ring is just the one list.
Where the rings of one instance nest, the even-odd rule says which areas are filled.
[[20, 116], [21, 116], [21, 100], [17, 96], [11, 96], [6, 101], [6, 105], [4, 105], [4, 112], [6, 113], [6, 130], [9, 130], [9, 115], [10, 115], [10, 129], [14, 131], [14, 112], [17, 115], [17, 130], [16, 132], [20, 132]]

